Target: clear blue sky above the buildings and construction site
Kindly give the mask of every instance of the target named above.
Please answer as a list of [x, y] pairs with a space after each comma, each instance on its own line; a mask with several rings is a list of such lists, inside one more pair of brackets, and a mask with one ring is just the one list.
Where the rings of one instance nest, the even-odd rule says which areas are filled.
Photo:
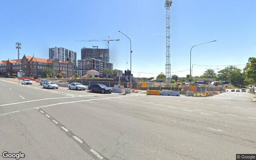
[[[172, 0], [171, 72], [189, 74], [192, 49], [193, 76], [212, 68], [246, 64], [256, 56], [256, 0]], [[135, 77], [156, 77], [165, 73], [166, 8], [164, 0], [5, 0], [0, 10], [0, 61], [20, 56], [48, 58], [48, 48], [81, 48], [106, 42], [76, 42], [110, 36], [110, 62], [114, 69], [130, 68]], [[128, 63], [127, 63], [128, 62]], [[244, 66], [238, 66], [244, 68]], [[185, 70], [185, 71], [182, 71]], [[182, 71], [182, 72], [178, 72]], [[140, 73], [139, 73], [140, 72]]]

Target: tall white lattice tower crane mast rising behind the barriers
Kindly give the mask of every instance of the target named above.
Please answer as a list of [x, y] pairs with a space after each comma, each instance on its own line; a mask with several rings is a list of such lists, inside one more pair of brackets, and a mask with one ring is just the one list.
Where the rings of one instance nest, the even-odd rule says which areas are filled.
[[170, 6], [172, 6], [172, 0], [165, 0], [164, 7], [166, 8], [166, 64], [165, 74], [166, 83], [171, 83], [171, 62], [170, 62]]

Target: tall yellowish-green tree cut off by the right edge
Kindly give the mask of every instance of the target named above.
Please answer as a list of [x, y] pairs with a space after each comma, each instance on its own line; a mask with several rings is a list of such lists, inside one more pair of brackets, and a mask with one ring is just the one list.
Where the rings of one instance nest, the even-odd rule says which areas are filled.
[[245, 81], [249, 84], [256, 84], [256, 58], [248, 58], [248, 63], [244, 67]]

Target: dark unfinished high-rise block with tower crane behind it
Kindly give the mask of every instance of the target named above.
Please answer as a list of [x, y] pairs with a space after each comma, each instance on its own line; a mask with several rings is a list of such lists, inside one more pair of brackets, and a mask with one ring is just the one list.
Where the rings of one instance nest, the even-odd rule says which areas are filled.
[[81, 49], [81, 59], [83, 60], [86, 58], [94, 58], [103, 62], [109, 62], [109, 50], [107, 48], [98, 48], [98, 46], [93, 48], [84, 47]]

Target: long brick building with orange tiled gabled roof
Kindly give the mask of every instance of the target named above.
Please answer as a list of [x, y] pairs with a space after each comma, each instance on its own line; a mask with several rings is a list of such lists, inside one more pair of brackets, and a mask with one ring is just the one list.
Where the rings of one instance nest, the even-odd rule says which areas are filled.
[[70, 77], [74, 65], [71, 61], [59, 61], [55, 59], [43, 59], [31, 56], [23, 56], [19, 60], [3, 60], [0, 62], [0, 76], [16, 76], [17, 72], [22, 70], [25, 77], [46, 77], [43, 69], [46, 67], [54, 69], [55, 74], [63, 74], [64, 77]]

